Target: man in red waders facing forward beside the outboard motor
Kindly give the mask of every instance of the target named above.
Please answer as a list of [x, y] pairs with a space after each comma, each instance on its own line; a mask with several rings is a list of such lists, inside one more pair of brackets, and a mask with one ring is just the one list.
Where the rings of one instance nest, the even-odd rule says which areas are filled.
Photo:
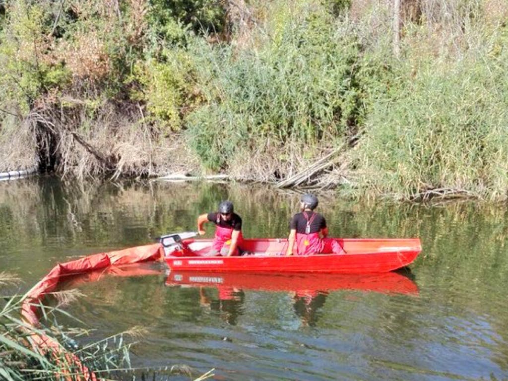
[[219, 204], [219, 210], [208, 214], [201, 214], [198, 217], [198, 232], [205, 234], [203, 224], [211, 222], [215, 224], [215, 237], [209, 256], [237, 256], [239, 254], [238, 246], [241, 244], [242, 237], [242, 219], [233, 212], [233, 203], [223, 201]]

